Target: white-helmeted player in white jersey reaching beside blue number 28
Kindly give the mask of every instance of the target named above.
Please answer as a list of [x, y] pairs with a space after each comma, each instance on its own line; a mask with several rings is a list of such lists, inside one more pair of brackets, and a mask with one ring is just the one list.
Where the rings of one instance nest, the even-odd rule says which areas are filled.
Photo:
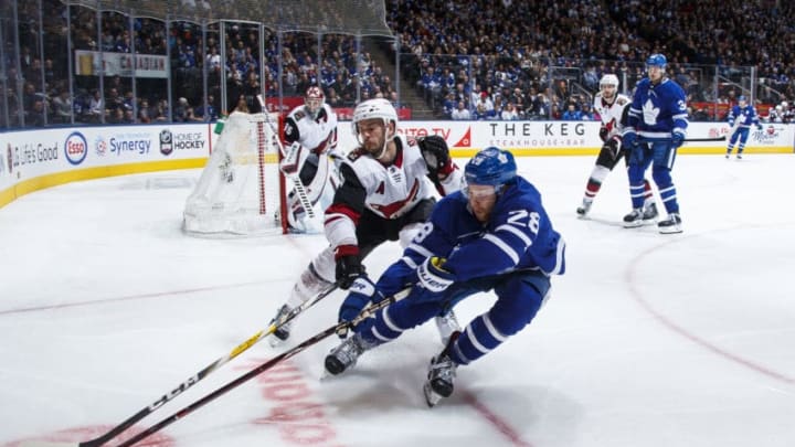
[[[348, 289], [364, 274], [362, 259], [382, 243], [400, 241], [405, 247], [431, 215], [434, 185], [442, 195], [460, 188], [462, 172], [445, 140], [398, 135], [398, 113], [389, 100], [359, 104], [352, 126], [359, 147], [342, 158], [342, 183], [326, 210], [329, 246], [301, 273], [272, 323], [330, 287]], [[272, 344], [287, 340], [293, 321], [278, 327]], [[443, 337], [457, 328], [452, 312], [436, 322]]]

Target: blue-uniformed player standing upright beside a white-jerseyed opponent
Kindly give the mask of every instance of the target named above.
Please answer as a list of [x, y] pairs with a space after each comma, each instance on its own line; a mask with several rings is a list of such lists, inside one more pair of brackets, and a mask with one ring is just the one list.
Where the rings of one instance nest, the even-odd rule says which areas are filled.
[[635, 86], [624, 146], [629, 152], [629, 195], [633, 211], [624, 216], [625, 227], [643, 225], [644, 172], [651, 164], [651, 178], [659, 189], [668, 217], [657, 223], [660, 233], [681, 233], [681, 217], [671, 169], [688, 127], [685, 91], [666, 76], [667, 60], [653, 54], [646, 61], [648, 76]]

